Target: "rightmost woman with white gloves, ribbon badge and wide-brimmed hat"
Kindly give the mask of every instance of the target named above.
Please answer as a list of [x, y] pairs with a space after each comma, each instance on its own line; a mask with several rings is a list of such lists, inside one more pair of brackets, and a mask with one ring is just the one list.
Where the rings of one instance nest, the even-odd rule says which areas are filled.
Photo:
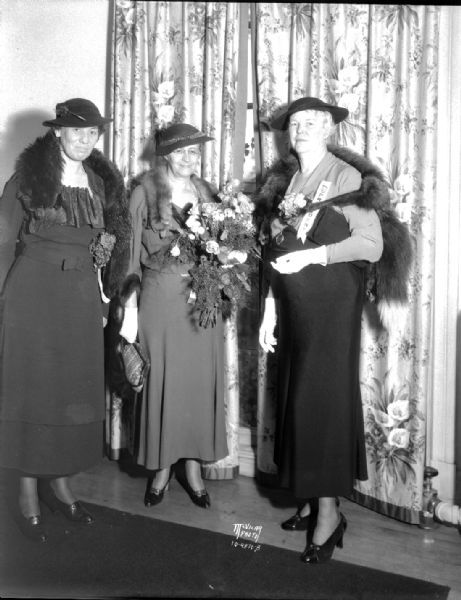
[[[380, 180], [376, 197], [368, 197], [367, 177], [377, 170], [327, 147], [347, 114], [306, 97], [275, 119], [275, 129], [288, 129], [293, 156], [274, 165], [258, 199], [268, 211], [271, 265], [260, 344], [266, 352], [276, 348], [279, 362], [275, 462], [281, 485], [298, 499], [282, 527], [308, 530], [306, 563], [324, 562], [342, 546], [346, 519], [337, 498], [367, 477], [359, 386], [363, 267], [381, 257], [375, 208], [384, 185]], [[308, 202], [323, 204], [296, 216]]]

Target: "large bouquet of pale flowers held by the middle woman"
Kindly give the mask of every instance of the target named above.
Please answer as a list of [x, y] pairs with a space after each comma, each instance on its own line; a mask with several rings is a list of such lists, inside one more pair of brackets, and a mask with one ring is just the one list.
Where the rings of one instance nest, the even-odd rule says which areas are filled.
[[194, 263], [189, 302], [202, 327], [215, 325], [218, 312], [228, 316], [251, 289], [251, 259], [258, 257], [254, 207], [234, 185], [224, 186], [220, 202], [192, 207], [168, 250], [176, 260]]

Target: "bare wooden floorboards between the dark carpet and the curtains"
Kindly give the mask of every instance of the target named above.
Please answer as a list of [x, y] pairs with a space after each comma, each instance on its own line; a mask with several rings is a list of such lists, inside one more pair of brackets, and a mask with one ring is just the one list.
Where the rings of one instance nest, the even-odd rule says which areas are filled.
[[[192, 504], [175, 478], [162, 503], [146, 508], [145, 485], [145, 473], [127, 470], [123, 463], [107, 459], [73, 479], [73, 489], [81, 500], [227, 535], [234, 534], [234, 524], [250, 523], [262, 527], [262, 545], [297, 552], [304, 549], [303, 532], [280, 528], [280, 522], [293, 514], [290, 496], [261, 487], [253, 478], [207, 481], [211, 497], [207, 510]], [[456, 528], [440, 525], [423, 530], [344, 499], [341, 511], [347, 517], [348, 529], [344, 548], [336, 550], [335, 559], [447, 585], [451, 588], [449, 600], [461, 600], [461, 535]]]

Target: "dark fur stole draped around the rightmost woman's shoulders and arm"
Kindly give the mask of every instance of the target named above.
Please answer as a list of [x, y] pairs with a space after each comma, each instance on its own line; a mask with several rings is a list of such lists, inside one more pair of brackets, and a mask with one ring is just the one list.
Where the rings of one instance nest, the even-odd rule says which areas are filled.
[[[319, 202], [315, 208], [356, 204], [377, 212], [384, 247], [380, 260], [367, 266], [367, 296], [378, 303], [381, 319], [385, 321], [383, 307], [402, 306], [408, 302], [408, 280], [413, 262], [412, 238], [407, 225], [398, 219], [391, 206], [389, 186], [381, 171], [348, 148], [329, 145], [328, 150], [355, 167], [362, 176], [362, 183], [358, 190]], [[267, 239], [270, 221], [298, 167], [298, 161], [292, 155], [278, 160], [256, 192], [255, 218], [262, 240]]]

